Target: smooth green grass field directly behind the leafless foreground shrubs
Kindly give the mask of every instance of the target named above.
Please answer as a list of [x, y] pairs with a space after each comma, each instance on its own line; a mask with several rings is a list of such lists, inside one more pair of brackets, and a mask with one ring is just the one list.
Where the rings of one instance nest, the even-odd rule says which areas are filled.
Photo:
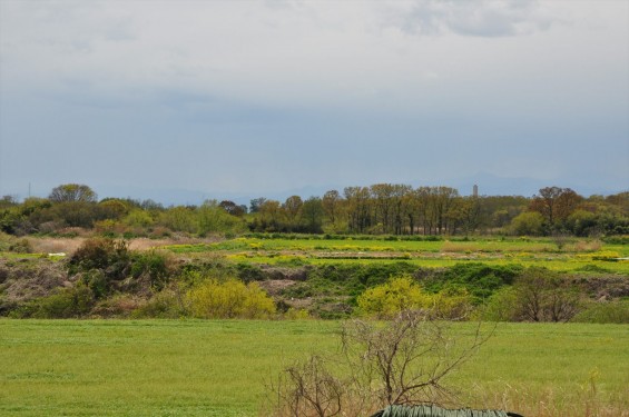
[[[295, 358], [334, 353], [338, 327], [2, 319], [0, 416], [257, 416], [265, 383]], [[455, 329], [465, 339], [473, 325]], [[629, 326], [500, 324], [451, 383], [488, 406], [503, 390], [569, 401], [593, 383], [599, 401], [629, 408]]]

